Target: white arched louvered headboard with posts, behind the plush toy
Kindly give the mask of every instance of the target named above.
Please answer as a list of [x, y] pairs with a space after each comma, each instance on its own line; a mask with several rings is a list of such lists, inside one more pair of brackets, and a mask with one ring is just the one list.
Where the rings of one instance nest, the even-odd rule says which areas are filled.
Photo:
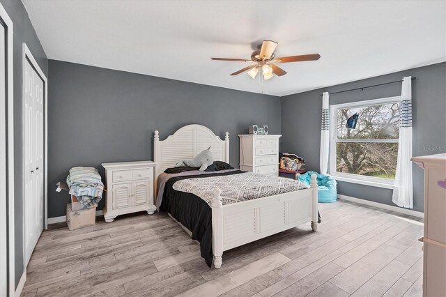
[[155, 187], [157, 177], [165, 169], [175, 167], [179, 160], [192, 159], [210, 146], [215, 161], [229, 163], [229, 133], [225, 133], [224, 141], [203, 125], [185, 125], [176, 130], [174, 135], [160, 140], [160, 132], [155, 131], [153, 137], [153, 157], [155, 166]]

